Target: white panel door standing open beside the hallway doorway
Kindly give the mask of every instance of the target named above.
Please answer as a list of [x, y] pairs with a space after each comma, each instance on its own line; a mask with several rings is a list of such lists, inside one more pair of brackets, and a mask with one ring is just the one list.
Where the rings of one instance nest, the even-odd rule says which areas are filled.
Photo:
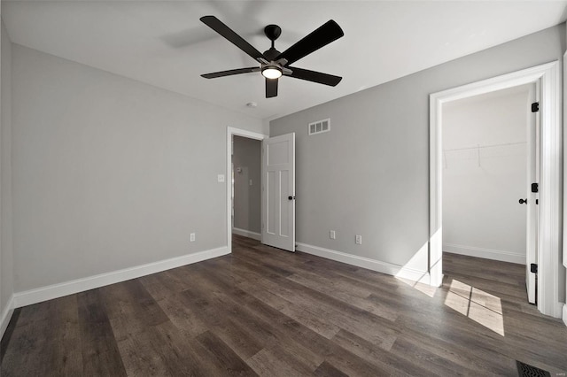
[[295, 251], [295, 133], [262, 141], [262, 243]]

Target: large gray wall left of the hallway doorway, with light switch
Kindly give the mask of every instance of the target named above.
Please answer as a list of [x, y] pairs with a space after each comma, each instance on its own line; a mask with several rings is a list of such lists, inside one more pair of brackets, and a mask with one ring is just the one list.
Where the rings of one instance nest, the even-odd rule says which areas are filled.
[[12, 62], [16, 292], [227, 245], [226, 129], [260, 119], [17, 44]]

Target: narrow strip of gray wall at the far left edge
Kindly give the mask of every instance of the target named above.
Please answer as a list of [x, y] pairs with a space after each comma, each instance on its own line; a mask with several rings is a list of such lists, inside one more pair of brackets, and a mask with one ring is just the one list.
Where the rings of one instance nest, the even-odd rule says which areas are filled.
[[[12, 254], [12, 42], [1, 22], [0, 66], [2, 108], [0, 109], [0, 321], [6, 305], [13, 294], [13, 254]], [[5, 325], [5, 324], [4, 324]], [[2, 323], [0, 323], [2, 326]], [[0, 332], [0, 335], [1, 332]]]

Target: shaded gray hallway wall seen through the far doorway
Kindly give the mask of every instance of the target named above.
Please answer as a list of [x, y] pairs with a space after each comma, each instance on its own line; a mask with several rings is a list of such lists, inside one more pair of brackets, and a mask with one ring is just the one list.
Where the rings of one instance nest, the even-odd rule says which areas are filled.
[[[260, 233], [260, 140], [234, 136], [234, 227], [253, 233]], [[237, 169], [240, 168], [240, 172]], [[250, 181], [252, 180], [252, 185]]]

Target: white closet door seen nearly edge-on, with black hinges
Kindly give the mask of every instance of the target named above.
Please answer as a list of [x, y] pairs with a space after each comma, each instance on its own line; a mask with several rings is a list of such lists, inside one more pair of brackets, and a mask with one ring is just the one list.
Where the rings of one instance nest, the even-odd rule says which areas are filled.
[[[536, 102], [539, 88], [530, 88], [530, 102]], [[531, 106], [530, 106], [531, 107]], [[525, 250], [525, 286], [528, 292], [528, 302], [536, 304], [537, 273], [532, 273], [531, 265], [538, 263], [540, 239], [540, 193], [532, 192], [532, 183], [540, 184], [540, 112], [528, 110], [528, 181], [527, 183], [527, 229]], [[538, 189], [539, 191], [539, 189]]]

